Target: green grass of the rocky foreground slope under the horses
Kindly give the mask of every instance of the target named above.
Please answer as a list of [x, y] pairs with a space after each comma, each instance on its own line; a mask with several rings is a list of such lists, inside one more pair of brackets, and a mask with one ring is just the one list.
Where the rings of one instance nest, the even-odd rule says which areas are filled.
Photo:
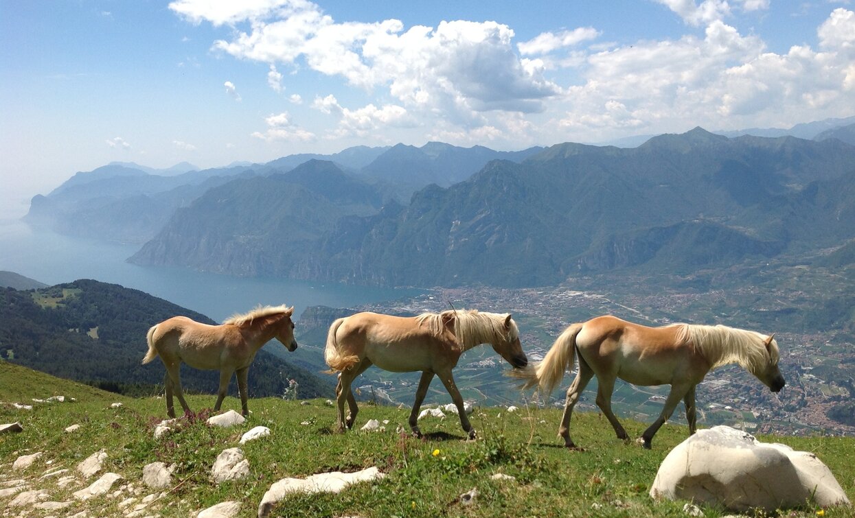
[[[148, 514], [188, 516], [224, 500], [240, 500], [242, 515], [255, 515], [264, 492], [277, 480], [377, 466], [386, 473], [379, 482], [351, 486], [338, 495], [288, 497], [276, 506], [274, 515], [685, 516], [684, 502], [656, 502], [648, 496], [660, 462], [687, 437], [686, 428], [681, 426], [663, 427], [654, 439], [653, 450], [642, 450], [615, 439], [601, 415], [578, 413], [572, 424], [573, 437], [585, 450], [569, 451], [555, 434], [561, 417], [558, 409], [521, 409], [512, 414], [499, 408], [476, 409], [472, 422], [479, 439], [473, 442], [463, 440], [463, 430], [453, 415], [444, 421], [422, 421], [422, 432], [427, 437], [413, 439], [395, 432], [396, 427], [406, 428], [409, 409], [363, 403], [357, 427], [369, 419], [389, 420], [386, 432], [338, 434], [332, 433], [334, 409], [322, 399], [301, 405], [264, 398], [250, 401], [251, 419], [239, 427], [208, 427], [204, 424], [207, 412], [202, 411], [198, 420], [182, 420], [180, 430], [156, 440], [154, 426], [166, 415], [162, 399], [120, 398], [28, 369], [9, 367], [0, 363], [0, 400], [27, 403], [30, 399], [23, 396], [48, 397], [56, 393], [74, 396], [77, 402], [40, 404], [29, 411], [0, 405], [0, 422], [21, 421], [25, 428], [23, 433], [0, 436], [0, 481], [21, 478], [20, 472], [4, 473], [10, 471], [9, 464], [17, 456], [35, 451], [44, 451], [44, 456], [23, 473], [23, 477], [32, 480], [48, 469], [73, 469], [100, 449], [109, 455], [104, 471], [122, 474], [140, 487], [145, 464], [176, 462], [174, 490], [152, 503]], [[56, 384], [48, 391], [53, 393], [42, 388], [50, 385], [38, 386], [38, 380], [48, 379]], [[14, 389], [9, 387], [11, 382], [17, 385]], [[200, 410], [213, 404], [214, 399], [192, 396], [188, 401], [193, 409]], [[114, 401], [124, 406], [110, 408], [109, 403]], [[239, 409], [239, 401], [227, 398], [224, 409]], [[310, 424], [304, 426], [304, 421]], [[634, 436], [646, 426], [623, 421]], [[63, 428], [72, 424], [80, 424], [81, 429], [63, 433]], [[221, 450], [237, 446], [241, 434], [258, 425], [269, 427], [272, 434], [241, 446], [250, 461], [250, 477], [215, 486], [209, 480], [209, 471], [216, 456]], [[855, 495], [855, 439], [762, 439], [813, 451], [828, 464], [850, 498]], [[439, 452], [434, 456], [435, 450]], [[49, 460], [50, 466], [45, 465]], [[491, 480], [490, 475], [495, 473], [513, 475], [516, 481]], [[71, 493], [84, 484], [80, 482], [66, 490], [44, 486], [51, 500], [65, 501], [72, 499]], [[476, 503], [463, 506], [458, 497], [472, 488], [480, 493]], [[145, 490], [139, 497], [150, 492], [153, 491]], [[92, 498], [63, 509], [61, 514], [87, 509], [90, 515], [120, 515], [117, 504], [125, 497]], [[11, 498], [0, 499], [0, 504]], [[598, 505], [602, 507], [594, 509]], [[723, 509], [701, 508], [706, 516], [728, 514]], [[795, 515], [813, 516], [816, 511], [806, 505]], [[828, 509], [825, 515], [855, 516], [855, 509]]]

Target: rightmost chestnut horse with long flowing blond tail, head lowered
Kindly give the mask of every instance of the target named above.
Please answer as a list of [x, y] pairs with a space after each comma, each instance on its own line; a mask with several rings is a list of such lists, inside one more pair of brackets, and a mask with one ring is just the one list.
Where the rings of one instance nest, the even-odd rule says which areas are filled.
[[672, 324], [646, 327], [603, 315], [571, 324], [552, 344], [544, 359], [527, 369], [510, 373], [525, 382], [522, 389], [538, 386], [551, 393], [574, 356], [579, 357], [579, 372], [567, 390], [564, 414], [558, 435], [564, 445], [575, 449], [569, 425], [573, 407], [588, 381], [597, 376], [597, 406], [615, 429], [618, 439], [628, 440], [621, 423], [611, 411], [611, 393], [615, 379], [634, 385], [670, 385], [662, 413], [638, 441], [651, 449], [653, 435], [668, 421], [677, 403], [686, 403], [689, 435], [697, 430], [695, 386], [716, 367], [739, 363], [773, 392], [781, 391], [786, 380], [778, 368], [779, 351], [775, 335], [722, 325]]

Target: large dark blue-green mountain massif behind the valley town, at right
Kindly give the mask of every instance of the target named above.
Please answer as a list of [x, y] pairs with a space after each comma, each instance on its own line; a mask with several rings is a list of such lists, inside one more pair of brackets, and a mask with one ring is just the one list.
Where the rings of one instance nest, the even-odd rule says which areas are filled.
[[551, 285], [610, 268], [694, 271], [855, 236], [855, 148], [696, 128], [622, 150], [491, 162], [409, 207], [346, 221], [319, 271], [383, 285]]

